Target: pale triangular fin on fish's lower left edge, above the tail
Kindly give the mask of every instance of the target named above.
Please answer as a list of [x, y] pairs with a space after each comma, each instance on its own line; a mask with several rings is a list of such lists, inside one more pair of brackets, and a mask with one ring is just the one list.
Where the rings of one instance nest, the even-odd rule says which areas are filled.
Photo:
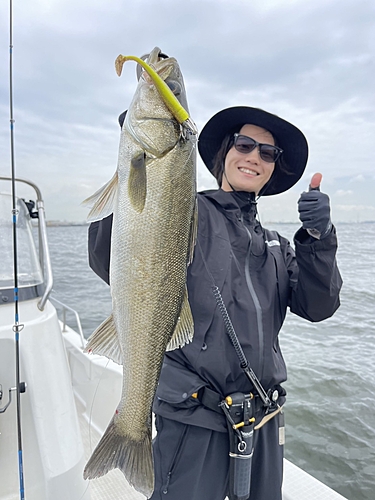
[[122, 365], [121, 347], [112, 314], [90, 335], [85, 352], [106, 356]]

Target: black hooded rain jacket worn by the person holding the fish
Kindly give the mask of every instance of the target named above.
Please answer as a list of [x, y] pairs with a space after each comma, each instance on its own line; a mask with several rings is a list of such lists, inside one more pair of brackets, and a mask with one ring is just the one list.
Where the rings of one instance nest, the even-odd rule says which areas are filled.
[[[322, 321], [339, 307], [342, 280], [335, 229], [316, 240], [300, 229], [295, 251], [256, 219], [253, 193], [221, 189], [198, 194], [198, 238], [187, 270], [194, 339], [167, 352], [154, 412], [183, 423], [226, 432], [223, 415], [192, 394], [209, 387], [221, 396], [252, 390], [231, 344], [213, 287], [217, 286], [249, 364], [267, 390], [286, 380], [278, 333], [287, 307]], [[109, 282], [112, 217], [89, 229], [89, 262]]]

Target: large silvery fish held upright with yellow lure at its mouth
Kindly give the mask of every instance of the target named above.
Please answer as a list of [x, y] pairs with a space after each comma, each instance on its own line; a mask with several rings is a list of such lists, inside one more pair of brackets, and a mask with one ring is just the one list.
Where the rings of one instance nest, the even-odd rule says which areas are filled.
[[123, 364], [123, 388], [84, 477], [119, 468], [149, 497], [154, 489], [151, 408], [163, 356], [166, 349], [190, 342], [194, 330], [186, 269], [196, 235], [196, 130], [177, 61], [156, 47], [147, 64], [119, 56], [119, 74], [128, 59], [145, 71], [125, 117], [117, 171], [86, 200], [95, 202], [91, 221], [113, 213], [113, 309], [86, 351]]

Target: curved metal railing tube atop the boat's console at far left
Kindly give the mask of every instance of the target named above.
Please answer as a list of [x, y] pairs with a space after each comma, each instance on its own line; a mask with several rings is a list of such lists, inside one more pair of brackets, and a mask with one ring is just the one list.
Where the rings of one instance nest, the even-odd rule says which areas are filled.
[[[0, 176], [0, 180], [12, 181], [12, 178]], [[51, 266], [51, 259], [49, 255], [49, 248], [47, 242], [47, 228], [46, 228], [44, 201], [42, 198], [42, 193], [36, 184], [27, 179], [21, 179], [21, 178], [16, 178], [15, 181], [23, 182], [24, 184], [28, 184], [29, 186], [31, 186], [36, 192], [37, 196], [36, 208], [38, 211], [38, 219], [39, 219], [39, 224], [38, 224], [39, 262], [42, 269], [43, 280], [45, 284], [45, 290], [41, 299], [38, 302], [38, 308], [41, 311], [43, 311], [53, 286], [52, 266]]]

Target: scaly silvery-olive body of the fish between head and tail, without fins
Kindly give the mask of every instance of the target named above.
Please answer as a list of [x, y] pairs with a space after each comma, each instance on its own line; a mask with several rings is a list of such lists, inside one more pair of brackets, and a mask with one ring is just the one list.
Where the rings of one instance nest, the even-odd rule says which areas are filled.
[[[132, 394], [142, 405], [145, 418], [154, 397], [154, 388], [150, 388], [147, 381], [157, 379], [161, 368], [161, 363], [147, 365], [147, 360], [162, 360], [177, 323], [186, 286], [191, 221], [185, 214], [192, 213], [194, 204], [186, 189], [192, 180], [185, 179], [176, 168], [179, 155], [179, 151], [173, 150], [162, 162], [153, 160], [148, 166], [147, 180], [155, 189], [153, 196], [147, 196], [142, 214], [134, 213], [128, 198], [120, 192], [119, 212], [127, 215], [120, 219], [114, 215], [113, 220], [114, 319], [116, 326], [124, 329], [124, 343], [134, 347], [123, 350], [122, 401], [126, 400], [126, 394]], [[188, 172], [188, 175], [191, 174]], [[176, 220], [181, 213], [183, 216]], [[131, 239], [123, 242], [123, 234], [131, 234]], [[120, 248], [122, 251], [117, 252]], [[121, 272], [123, 280], [113, 276], [116, 272]], [[137, 433], [137, 427], [141, 425], [144, 429], [145, 422], [137, 420], [138, 405], [133, 404], [125, 406], [121, 415], [133, 423], [131, 430]]]

